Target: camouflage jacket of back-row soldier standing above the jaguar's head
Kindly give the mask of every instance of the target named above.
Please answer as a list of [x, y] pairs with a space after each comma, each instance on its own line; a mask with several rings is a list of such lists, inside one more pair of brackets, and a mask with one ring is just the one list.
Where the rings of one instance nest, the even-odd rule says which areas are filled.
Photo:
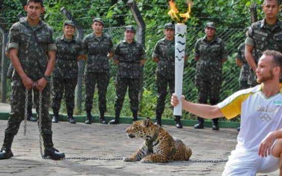
[[113, 59], [120, 61], [116, 72], [117, 76], [139, 79], [142, 76], [142, 67], [139, 63], [141, 60], [147, 59], [147, 56], [142, 44], [135, 40], [128, 44], [126, 40], [122, 40], [115, 47]]

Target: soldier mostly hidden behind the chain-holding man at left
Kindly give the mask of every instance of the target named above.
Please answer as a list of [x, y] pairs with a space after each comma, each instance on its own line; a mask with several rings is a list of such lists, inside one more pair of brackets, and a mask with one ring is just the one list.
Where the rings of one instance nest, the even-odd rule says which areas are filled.
[[[5, 48], [5, 55], [8, 58], [10, 58], [10, 53], [8, 51], [7, 46], [8, 46], [8, 43], [7, 43], [6, 48]], [[10, 62], [10, 65], [9, 65], [9, 68], [8, 68], [8, 71], [7, 71], [7, 78], [10, 79], [10, 80], [12, 80], [13, 71], [14, 71], [14, 67], [13, 67], [12, 62]], [[13, 82], [11, 84], [13, 84]], [[30, 91], [28, 95], [29, 95], [29, 97], [28, 97], [28, 107], [27, 107], [27, 114], [28, 114], [27, 120], [37, 121], [37, 118], [34, 118], [32, 116], [32, 92]], [[12, 96], [11, 96], [11, 104], [12, 104], [12, 100], [13, 99], [12, 99]]]

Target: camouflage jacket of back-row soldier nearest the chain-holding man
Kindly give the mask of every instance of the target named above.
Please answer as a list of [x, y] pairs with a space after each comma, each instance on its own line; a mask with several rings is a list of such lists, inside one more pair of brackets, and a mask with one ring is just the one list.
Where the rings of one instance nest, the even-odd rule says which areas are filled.
[[81, 41], [76, 38], [65, 40], [64, 36], [60, 36], [56, 38], [56, 46], [56, 64], [53, 77], [77, 78], [77, 58], [79, 55], [83, 55]]

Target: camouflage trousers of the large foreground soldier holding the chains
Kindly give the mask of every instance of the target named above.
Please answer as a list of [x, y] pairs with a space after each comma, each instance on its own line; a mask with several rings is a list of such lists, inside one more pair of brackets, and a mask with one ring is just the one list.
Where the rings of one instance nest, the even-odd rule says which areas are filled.
[[[33, 103], [36, 108], [37, 116], [39, 114], [39, 91], [34, 87]], [[42, 91], [42, 107], [41, 107], [41, 135], [52, 135], [52, 122], [49, 117], [51, 86], [50, 83]], [[8, 125], [5, 134], [16, 135], [19, 129], [20, 122], [25, 119], [25, 105], [26, 105], [26, 88], [23, 86], [21, 80], [14, 80], [12, 86], [12, 103], [11, 112], [9, 114]], [[38, 117], [39, 118], [39, 117]], [[39, 121], [38, 121], [39, 123]]]

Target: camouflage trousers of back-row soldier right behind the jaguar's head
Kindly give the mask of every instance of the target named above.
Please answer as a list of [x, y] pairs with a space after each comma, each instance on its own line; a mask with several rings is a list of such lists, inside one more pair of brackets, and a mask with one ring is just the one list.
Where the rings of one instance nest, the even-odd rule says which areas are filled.
[[123, 102], [125, 94], [128, 87], [129, 103], [130, 110], [132, 112], [138, 111], [139, 100], [138, 93], [140, 90], [140, 80], [139, 79], [130, 79], [130, 78], [121, 78], [116, 76], [115, 78], [115, 101], [114, 101], [114, 110], [120, 112], [123, 107]]

